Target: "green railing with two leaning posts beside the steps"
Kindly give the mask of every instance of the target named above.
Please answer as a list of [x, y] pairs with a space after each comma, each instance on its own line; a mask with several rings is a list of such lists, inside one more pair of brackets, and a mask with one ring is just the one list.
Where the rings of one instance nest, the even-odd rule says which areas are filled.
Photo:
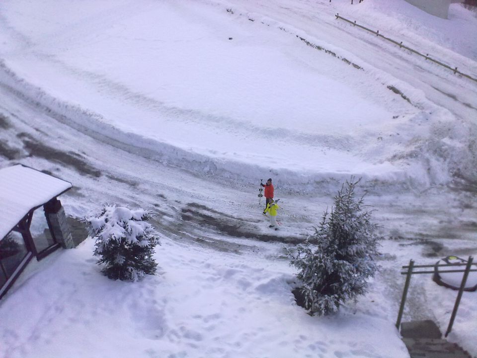
[[459, 308], [459, 303], [461, 302], [462, 293], [466, 287], [467, 277], [469, 276], [469, 272], [477, 271], [477, 269], [471, 269], [473, 264], [474, 258], [469, 256], [467, 260], [467, 264], [442, 264], [442, 265], [414, 265], [414, 261], [409, 261], [409, 266], [403, 266], [403, 269], [407, 269], [405, 272], [401, 272], [401, 274], [406, 275], [406, 282], [404, 283], [404, 291], [402, 292], [401, 304], [399, 306], [399, 313], [397, 314], [397, 321], [396, 321], [396, 328], [399, 329], [401, 324], [402, 312], [404, 311], [404, 304], [406, 302], [407, 290], [409, 289], [409, 283], [411, 280], [411, 275], [416, 273], [435, 273], [435, 270], [432, 271], [414, 271], [414, 269], [423, 269], [423, 268], [438, 268], [438, 267], [452, 267], [452, 266], [465, 266], [465, 269], [454, 269], [454, 270], [442, 270], [439, 273], [446, 273], [446, 272], [464, 272], [462, 276], [461, 285], [459, 287], [459, 293], [457, 294], [456, 302], [454, 303], [454, 309], [452, 310], [451, 320], [449, 321], [449, 326], [447, 327], [447, 331], [445, 337], [451, 332], [452, 325], [454, 324], [454, 319], [456, 318], [457, 309]]

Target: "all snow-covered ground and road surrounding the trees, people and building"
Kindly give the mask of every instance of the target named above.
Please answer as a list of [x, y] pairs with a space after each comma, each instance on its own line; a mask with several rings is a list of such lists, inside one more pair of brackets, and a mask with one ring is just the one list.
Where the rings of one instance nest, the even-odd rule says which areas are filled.
[[[335, 13], [477, 78], [460, 4], [443, 20], [403, 0], [0, 3], [0, 166], [73, 182], [78, 217], [153, 209], [163, 235], [140, 282], [100, 275], [90, 239], [31, 265], [0, 303], [0, 357], [408, 357], [400, 266], [477, 253], [477, 85]], [[283, 247], [350, 175], [387, 238], [382, 269], [357, 304], [310, 317]], [[473, 355], [475, 296], [449, 336]], [[405, 318], [445, 331], [454, 299], [413, 277]]]

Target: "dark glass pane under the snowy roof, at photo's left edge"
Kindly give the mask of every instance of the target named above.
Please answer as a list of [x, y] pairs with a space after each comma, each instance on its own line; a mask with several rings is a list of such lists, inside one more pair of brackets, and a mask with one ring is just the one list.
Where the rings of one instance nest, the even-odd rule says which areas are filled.
[[[16, 231], [10, 232], [0, 241], [1, 267], [9, 278], [27, 254], [23, 237]], [[1, 281], [1, 277], [0, 277]]]

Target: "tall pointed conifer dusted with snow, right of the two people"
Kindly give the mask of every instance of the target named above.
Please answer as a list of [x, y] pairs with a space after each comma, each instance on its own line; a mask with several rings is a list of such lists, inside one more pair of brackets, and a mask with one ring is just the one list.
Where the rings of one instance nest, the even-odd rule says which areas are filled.
[[[374, 276], [379, 236], [371, 213], [363, 210], [363, 197], [354, 189], [359, 180], [346, 181], [325, 211], [315, 234], [289, 253], [299, 272], [299, 293], [311, 314], [336, 312], [340, 304], [366, 293], [366, 278]], [[316, 242], [312, 246], [311, 242]]]

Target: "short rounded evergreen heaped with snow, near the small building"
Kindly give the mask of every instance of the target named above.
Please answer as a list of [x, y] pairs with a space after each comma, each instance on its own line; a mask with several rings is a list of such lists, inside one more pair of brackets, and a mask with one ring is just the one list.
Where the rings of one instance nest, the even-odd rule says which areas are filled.
[[158, 264], [153, 259], [159, 233], [147, 221], [151, 214], [144, 209], [105, 205], [101, 213], [84, 219], [95, 242], [98, 265], [112, 279], [136, 281], [154, 274]]

